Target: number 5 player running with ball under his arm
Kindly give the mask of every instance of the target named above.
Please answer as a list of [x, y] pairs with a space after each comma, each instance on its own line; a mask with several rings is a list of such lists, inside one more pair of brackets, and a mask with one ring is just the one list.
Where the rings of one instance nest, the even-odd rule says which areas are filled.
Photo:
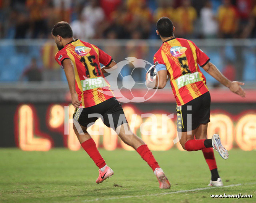
[[[244, 83], [228, 80], [214, 64], [209, 62], [209, 57], [190, 40], [175, 38], [173, 35], [175, 27], [169, 18], [160, 18], [156, 26], [157, 35], [160, 35], [163, 43], [154, 55], [154, 65], [158, 75], [153, 82], [147, 80], [147, 86], [162, 89], [169, 75], [177, 102], [177, 131], [180, 144], [187, 151], [202, 150], [211, 170], [209, 186], [222, 186], [213, 149], [224, 159], [228, 158], [228, 152], [220, 143], [218, 134], [214, 134], [212, 139], [207, 139], [211, 96], [206, 86], [206, 78], [198, 64], [230, 91], [241, 97], [245, 97], [245, 91], [240, 86]], [[154, 70], [151, 69], [152, 71]], [[192, 120], [188, 114], [192, 115]], [[188, 118], [190, 120], [187, 120]]]

